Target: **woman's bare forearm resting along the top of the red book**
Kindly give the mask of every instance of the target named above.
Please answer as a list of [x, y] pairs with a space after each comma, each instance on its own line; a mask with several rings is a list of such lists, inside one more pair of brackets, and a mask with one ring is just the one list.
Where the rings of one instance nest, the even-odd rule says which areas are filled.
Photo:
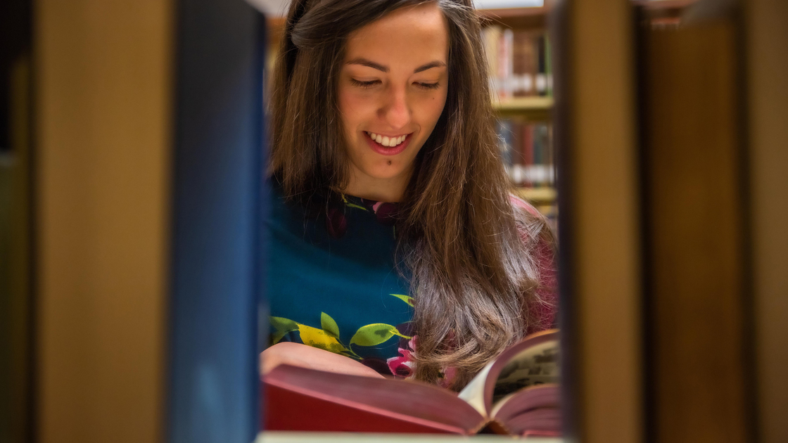
[[290, 341], [274, 344], [260, 354], [260, 373], [266, 375], [283, 363], [340, 374], [384, 378], [377, 373], [377, 370], [366, 367], [350, 357]]

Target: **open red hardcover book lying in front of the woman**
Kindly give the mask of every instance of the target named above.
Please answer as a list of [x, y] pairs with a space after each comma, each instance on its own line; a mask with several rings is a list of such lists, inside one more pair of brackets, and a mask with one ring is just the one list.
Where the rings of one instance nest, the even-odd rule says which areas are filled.
[[422, 382], [281, 365], [263, 378], [265, 430], [559, 435], [559, 335], [507, 348], [456, 394]]

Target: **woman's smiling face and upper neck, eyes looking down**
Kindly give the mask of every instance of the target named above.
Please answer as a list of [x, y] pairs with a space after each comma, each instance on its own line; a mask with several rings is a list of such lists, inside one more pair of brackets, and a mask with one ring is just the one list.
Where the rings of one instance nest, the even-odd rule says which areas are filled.
[[443, 111], [447, 65], [448, 30], [434, 2], [397, 9], [350, 35], [338, 87], [351, 163], [345, 192], [400, 199]]

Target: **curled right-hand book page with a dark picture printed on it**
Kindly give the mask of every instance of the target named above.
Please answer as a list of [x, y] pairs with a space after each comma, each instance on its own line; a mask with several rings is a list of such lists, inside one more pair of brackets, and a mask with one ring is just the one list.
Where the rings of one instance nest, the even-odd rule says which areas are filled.
[[504, 396], [528, 386], [558, 383], [558, 353], [559, 342], [546, 341], [512, 357], [496, 380], [492, 403], [495, 404]]

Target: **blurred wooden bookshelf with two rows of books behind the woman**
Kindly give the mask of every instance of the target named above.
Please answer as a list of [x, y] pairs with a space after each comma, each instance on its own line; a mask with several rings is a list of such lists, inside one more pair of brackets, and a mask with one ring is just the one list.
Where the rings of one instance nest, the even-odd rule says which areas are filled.
[[552, 148], [549, 6], [481, 9], [501, 159], [515, 195], [552, 223], [557, 215]]

